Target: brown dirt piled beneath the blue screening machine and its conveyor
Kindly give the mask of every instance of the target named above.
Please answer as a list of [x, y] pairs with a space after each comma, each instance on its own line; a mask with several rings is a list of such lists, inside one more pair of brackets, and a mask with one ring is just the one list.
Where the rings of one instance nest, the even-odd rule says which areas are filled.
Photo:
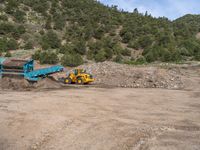
[[45, 78], [37, 83], [28, 82], [25, 79], [17, 78], [2, 78], [0, 80], [0, 89], [3, 90], [40, 90], [40, 89], [59, 89], [62, 85], [56, 82], [53, 78]]

